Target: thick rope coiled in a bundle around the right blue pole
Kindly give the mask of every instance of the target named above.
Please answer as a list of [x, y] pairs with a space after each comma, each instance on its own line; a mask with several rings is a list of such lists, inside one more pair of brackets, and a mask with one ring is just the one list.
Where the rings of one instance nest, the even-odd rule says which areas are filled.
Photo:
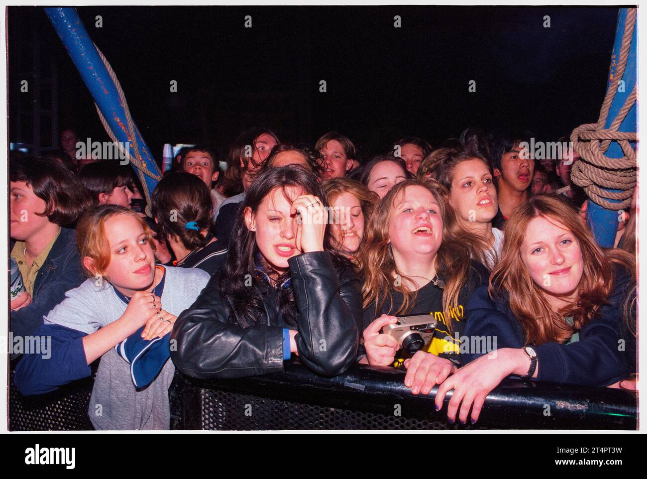
[[[581, 157], [573, 164], [571, 179], [573, 183], [584, 188], [591, 201], [608, 210], [628, 208], [631, 205], [631, 194], [636, 185], [636, 152], [631, 148], [630, 142], [637, 142], [638, 136], [636, 133], [618, 131], [624, 118], [636, 102], [636, 85], [609, 128], [604, 128], [629, 58], [636, 12], [636, 8], [630, 8], [627, 12], [617, 69], [611, 78], [604, 102], [602, 102], [598, 122], [580, 125], [571, 133], [573, 148]], [[618, 142], [622, 153], [624, 153], [623, 157], [609, 158], [604, 154], [612, 141]], [[609, 192], [608, 190], [622, 191]], [[620, 201], [620, 203], [613, 203], [609, 201], [610, 199]]]

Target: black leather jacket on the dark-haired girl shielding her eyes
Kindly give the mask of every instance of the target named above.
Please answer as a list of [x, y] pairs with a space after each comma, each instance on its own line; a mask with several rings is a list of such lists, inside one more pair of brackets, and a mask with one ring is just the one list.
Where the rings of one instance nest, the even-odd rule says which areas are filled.
[[[303, 253], [288, 260], [296, 302], [300, 361], [314, 372], [334, 376], [357, 355], [362, 327], [360, 280], [349, 265], [336, 271], [328, 252]], [[199, 379], [281, 372], [283, 328], [274, 313], [276, 290], [263, 296], [265, 312], [256, 326], [241, 328], [232, 301], [219, 289], [215, 273], [200, 296], [177, 318], [171, 332], [177, 348], [171, 359], [181, 372]]]

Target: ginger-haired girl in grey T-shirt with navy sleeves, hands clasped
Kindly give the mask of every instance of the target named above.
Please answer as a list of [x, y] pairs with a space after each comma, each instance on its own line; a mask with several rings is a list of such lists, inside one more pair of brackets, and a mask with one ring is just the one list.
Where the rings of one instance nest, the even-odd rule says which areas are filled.
[[[200, 269], [156, 266], [151, 230], [123, 206], [91, 210], [79, 222], [77, 237], [89, 279], [68, 291], [36, 331], [38, 337], [50, 337], [52, 346], [48, 355], [23, 356], [16, 366], [16, 386], [24, 395], [50, 392], [88, 377], [90, 364], [101, 358], [89, 407], [94, 427], [168, 429], [173, 364], [162, 361], [157, 377], [138, 390], [131, 364], [115, 346], [125, 339], [132, 343], [168, 335], [209, 275]], [[101, 414], [96, 414], [99, 407]]]

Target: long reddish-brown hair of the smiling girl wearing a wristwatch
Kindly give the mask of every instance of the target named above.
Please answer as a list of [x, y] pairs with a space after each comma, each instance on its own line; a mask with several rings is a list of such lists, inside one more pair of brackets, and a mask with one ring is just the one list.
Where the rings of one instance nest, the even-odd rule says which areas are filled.
[[[530, 221], [543, 217], [561, 223], [579, 243], [584, 271], [577, 289], [577, 300], [559, 311], [549, 306], [521, 259], [521, 243]], [[501, 260], [490, 274], [490, 296], [509, 294], [510, 309], [521, 324], [526, 344], [563, 343], [581, 329], [607, 303], [613, 290], [615, 265], [622, 265], [635, 276], [635, 261], [626, 251], [602, 249], [584, 226], [578, 213], [562, 197], [536, 195], [514, 210], [505, 227]], [[507, 291], [507, 293], [505, 293]], [[573, 316], [573, 326], [564, 318]]]

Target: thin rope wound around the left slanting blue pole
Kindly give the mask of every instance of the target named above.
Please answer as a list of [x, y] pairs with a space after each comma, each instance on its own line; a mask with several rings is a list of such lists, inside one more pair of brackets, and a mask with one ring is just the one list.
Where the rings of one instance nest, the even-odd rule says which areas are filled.
[[[113, 70], [113, 67], [111, 67], [109, 61], [105, 58], [104, 54], [102, 51], [99, 49], [99, 47], [94, 44], [94, 48], [96, 49], [96, 52], [99, 55], [99, 58], [101, 58], [101, 61], [104, 62], [105, 69], [108, 71], [108, 74], [110, 75], [111, 80], [113, 80], [113, 84], [115, 84], [115, 87], [117, 89], [117, 93], [119, 94], [119, 100], [124, 107], [124, 113], [126, 115], [126, 125], [127, 125], [127, 131], [125, 131], [128, 142], [133, 148], [133, 153], [134, 155], [131, 155], [130, 151], [124, 150], [122, 148], [122, 145], [118, 141], [115, 132], [110, 128], [107, 120], [105, 119], [103, 113], [101, 113], [101, 109], [98, 107], [98, 105], [95, 103], [94, 106], [96, 107], [96, 111], [99, 114], [99, 118], [104, 125], [104, 129], [108, 136], [115, 142], [115, 144], [118, 146], [119, 150], [122, 151], [126, 155], [126, 158], [128, 159], [129, 162], [131, 162], [133, 165], [135, 165], [135, 168], [137, 168], [137, 176], [140, 179], [140, 183], [142, 183], [142, 188], [144, 188], [144, 197], [146, 197], [146, 214], [148, 216], [151, 216], [151, 193], [148, 190], [148, 184], [146, 183], [146, 179], [144, 178], [144, 175], [151, 177], [156, 180], [162, 179], [160, 175], [157, 175], [156, 173], [151, 172], [151, 170], [148, 169], [148, 166], [146, 166], [146, 162], [142, 159], [142, 154], [140, 153], [140, 148], [139, 148], [139, 143], [137, 140], [137, 135], [135, 134], [135, 129], [137, 127], [135, 126], [135, 122], [133, 122], [133, 118], [130, 115], [130, 109], [128, 108], [128, 102], [126, 101], [126, 95], [124, 95], [124, 91], [122, 90], [121, 84], [119, 83], [119, 80], [117, 80], [117, 76], [115, 74], [115, 71]], [[120, 118], [115, 118], [117, 122], [120, 122]], [[138, 133], [138, 132], [137, 132]], [[153, 159], [149, 160], [153, 161]]]

